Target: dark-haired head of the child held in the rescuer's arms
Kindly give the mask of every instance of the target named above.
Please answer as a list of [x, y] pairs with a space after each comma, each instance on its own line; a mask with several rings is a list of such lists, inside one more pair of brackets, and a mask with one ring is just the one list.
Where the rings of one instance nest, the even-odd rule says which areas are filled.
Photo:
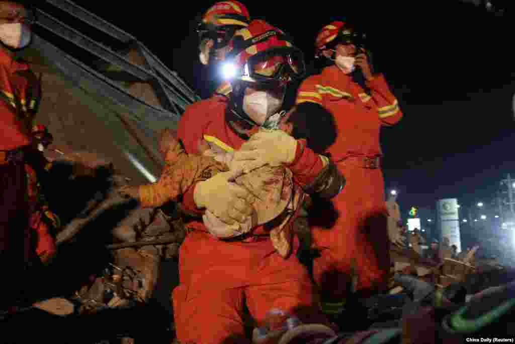
[[286, 114], [283, 130], [296, 139], [306, 139], [308, 148], [322, 154], [336, 140], [331, 112], [315, 103], [301, 103]]

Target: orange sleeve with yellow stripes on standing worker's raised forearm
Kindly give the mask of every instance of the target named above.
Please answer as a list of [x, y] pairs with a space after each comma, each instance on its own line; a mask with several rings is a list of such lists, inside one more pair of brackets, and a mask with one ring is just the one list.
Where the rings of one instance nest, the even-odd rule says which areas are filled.
[[397, 98], [391, 93], [383, 74], [376, 75], [367, 81], [371, 90], [371, 97], [377, 106], [377, 113], [383, 125], [393, 125], [402, 118], [401, 108]]

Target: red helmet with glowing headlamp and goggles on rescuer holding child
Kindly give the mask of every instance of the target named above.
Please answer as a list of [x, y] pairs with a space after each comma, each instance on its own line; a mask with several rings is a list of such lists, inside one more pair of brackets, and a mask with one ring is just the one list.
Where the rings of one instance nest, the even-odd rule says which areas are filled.
[[[232, 86], [229, 96], [232, 113], [255, 125], [243, 110], [245, 89], [251, 85], [284, 97], [286, 84], [305, 72], [302, 52], [282, 30], [262, 20], [253, 20], [238, 30], [230, 42], [224, 69]], [[255, 86], [252, 86], [255, 87]]]

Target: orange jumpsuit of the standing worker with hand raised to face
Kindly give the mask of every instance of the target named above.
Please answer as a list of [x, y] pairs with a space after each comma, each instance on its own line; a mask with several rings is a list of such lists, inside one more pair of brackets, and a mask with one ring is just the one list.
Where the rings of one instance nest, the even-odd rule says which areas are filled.
[[353, 269], [357, 289], [381, 286], [390, 269], [383, 174], [373, 162], [382, 154], [381, 126], [397, 123], [402, 113], [382, 75], [367, 87], [370, 94], [332, 65], [305, 79], [296, 100], [320, 104], [335, 117], [338, 137], [328, 152], [347, 181], [332, 199], [338, 217], [331, 230], [312, 230], [321, 250], [314, 279], [332, 298], [345, 296]]

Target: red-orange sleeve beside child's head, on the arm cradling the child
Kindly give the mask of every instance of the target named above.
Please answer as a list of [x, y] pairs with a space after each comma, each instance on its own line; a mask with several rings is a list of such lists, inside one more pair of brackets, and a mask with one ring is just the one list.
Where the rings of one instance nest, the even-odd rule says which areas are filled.
[[313, 183], [325, 167], [320, 155], [307, 148], [306, 140], [297, 140], [297, 150], [293, 162], [288, 166], [295, 181], [302, 187]]

